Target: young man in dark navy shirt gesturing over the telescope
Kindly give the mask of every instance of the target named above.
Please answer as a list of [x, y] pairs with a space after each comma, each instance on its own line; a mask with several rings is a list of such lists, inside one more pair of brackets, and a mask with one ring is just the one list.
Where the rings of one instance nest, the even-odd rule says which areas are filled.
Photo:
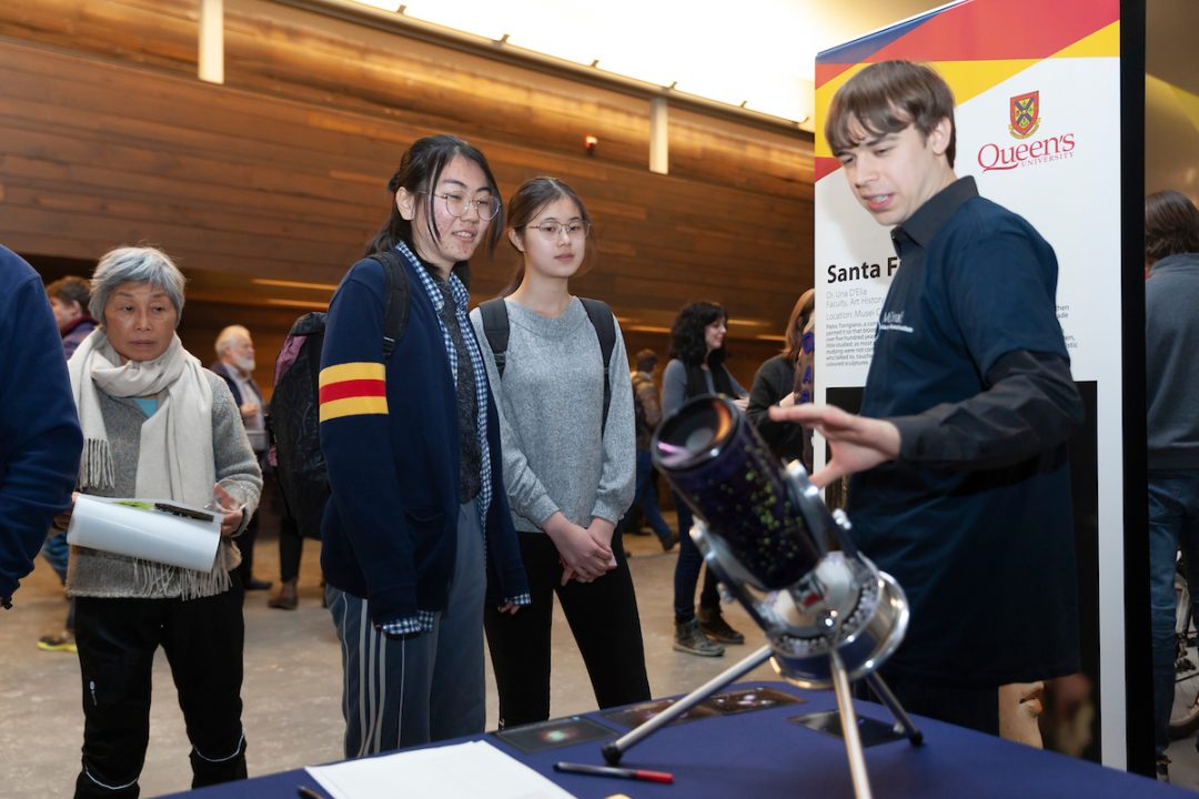
[[867, 67], [833, 97], [825, 134], [858, 201], [893, 228], [902, 266], [861, 414], [771, 413], [829, 441], [813, 482], [854, 476], [854, 535], [908, 594], [911, 624], [882, 671], [900, 702], [998, 734], [1001, 703], [1078, 668], [1066, 441], [1083, 407], [1058, 262], [1028, 222], [954, 175], [953, 95], [933, 69]]

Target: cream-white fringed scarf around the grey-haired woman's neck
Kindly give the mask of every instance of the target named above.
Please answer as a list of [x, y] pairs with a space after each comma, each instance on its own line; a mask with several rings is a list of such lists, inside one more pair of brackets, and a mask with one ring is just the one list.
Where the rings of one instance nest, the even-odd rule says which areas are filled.
[[112, 448], [98, 392], [109, 397], [157, 394], [158, 410], [141, 425], [134, 494], [200, 508], [209, 504], [216, 483], [212, 389], [201, 369], [179, 335], [173, 335], [167, 351], [153, 361], [122, 364], [103, 328], [92, 331], [67, 363], [84, 436], [79, 488], [97, 494], [115, 490]]

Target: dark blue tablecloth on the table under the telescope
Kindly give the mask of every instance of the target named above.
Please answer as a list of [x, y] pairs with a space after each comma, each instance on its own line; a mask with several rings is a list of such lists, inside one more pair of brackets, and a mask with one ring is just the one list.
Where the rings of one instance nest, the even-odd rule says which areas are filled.
[[[601, 745], [628, 731], [628, 727], [609, 719], [608, 712], [585, 716], [611, 730], [611, 736], [600, 742], [532, 753], [522, 752], [490, 733], [442, 743], [487, 740], [579, 799], [605, 799], [613, 794], [626, 794], [632, 799], [852, 799], [854, 787], [842, 739], [791, 721], [796, 716], [836, 710], [832, 691], [803, 691], [773, 682], [740, 683], [725, 691], [759, 686], [789, 694], [803, 702], [675, 722], [625, 752], [620, 765], [669, 771], [674, 775], [673, 785], [554, 771], [558, 761], [604, 764]], [[860, 716], [888, 726], [892, 724], [882, 706], [855, 702], [855, 708]], [[902, 738], [864, 750], [870, 786], [880, 799], [1193, 795], [1167, 783], [1086, 761], [920, 716], [914, 716], [914, 720], [924, 733], [922, 746], [912, 746]], [[188, 799], [295, 799], [296, 788], [301, 785], [312, 787], [321, 797], [326, 795], [302, 769], [174, 795]], [[396, 795], [417, 799], [402, 789], [397, 789]]]

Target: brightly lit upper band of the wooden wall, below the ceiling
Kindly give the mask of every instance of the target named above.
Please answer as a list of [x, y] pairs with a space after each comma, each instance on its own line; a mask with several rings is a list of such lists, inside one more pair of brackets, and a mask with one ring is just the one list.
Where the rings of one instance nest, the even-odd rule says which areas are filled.
[[[197, 0], [8, 0], [0, 35], [153, 65], [195, 69]], [[649, 102], [397, 36], [271, 0], [225, 0], [225, 83], [325, 108], [362, 110], [430, 132], [506, 140], [645, 169]], [[811, 199], [811, 137], [771, 132], [677, 107], [677, 174]]]

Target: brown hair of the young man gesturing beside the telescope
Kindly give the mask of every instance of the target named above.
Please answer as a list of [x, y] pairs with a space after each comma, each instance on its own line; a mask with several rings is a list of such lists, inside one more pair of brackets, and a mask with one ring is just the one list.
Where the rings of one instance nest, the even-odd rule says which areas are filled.
[[928, 137], [944, 119], [950, 120], [945, 157], [953, 167], [957, 128], [950, 85], [923, 63], [882, 61], [866, 67], [837, 90], [825, 121], [825, 139], [837, 155], [909, 125]]

